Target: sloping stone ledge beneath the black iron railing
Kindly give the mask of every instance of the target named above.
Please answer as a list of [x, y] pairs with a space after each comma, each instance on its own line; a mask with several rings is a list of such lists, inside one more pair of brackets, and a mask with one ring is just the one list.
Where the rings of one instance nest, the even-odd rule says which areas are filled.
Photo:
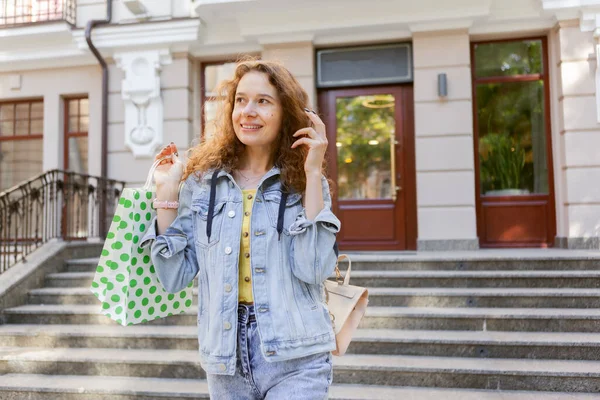
[[61, 272], [65, 260], [99, 256], [100, 242], [64, 242], [51, 240], [33, 253], [26, 261], [13, 265], [0, 274], [0, 324], [6, 323], [4, 310], [27, 304], [28, 292], [44, 286], [46, 275]]

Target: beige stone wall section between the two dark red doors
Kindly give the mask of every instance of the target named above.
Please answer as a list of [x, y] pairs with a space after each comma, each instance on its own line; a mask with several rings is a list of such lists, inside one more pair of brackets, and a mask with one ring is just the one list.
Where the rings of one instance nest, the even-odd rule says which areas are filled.
[[418, 248], [478, 248], [469, 35], [418, 33], [413, 46]]

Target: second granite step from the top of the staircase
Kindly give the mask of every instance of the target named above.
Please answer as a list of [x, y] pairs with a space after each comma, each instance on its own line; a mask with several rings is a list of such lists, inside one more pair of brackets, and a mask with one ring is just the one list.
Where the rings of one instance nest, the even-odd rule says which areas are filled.
[[[46, 287], [89, 287], [95, 272], [46, 276]], [[600, 288], [599, 271], [353, 271], [350, 284], [404, 288]]]

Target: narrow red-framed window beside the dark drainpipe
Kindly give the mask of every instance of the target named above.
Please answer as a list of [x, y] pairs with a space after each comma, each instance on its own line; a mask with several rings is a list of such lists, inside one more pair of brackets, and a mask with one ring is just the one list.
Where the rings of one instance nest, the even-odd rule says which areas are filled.
[[87, 174], [89, 100], [66, 99], [65, 114], [65, 169]]

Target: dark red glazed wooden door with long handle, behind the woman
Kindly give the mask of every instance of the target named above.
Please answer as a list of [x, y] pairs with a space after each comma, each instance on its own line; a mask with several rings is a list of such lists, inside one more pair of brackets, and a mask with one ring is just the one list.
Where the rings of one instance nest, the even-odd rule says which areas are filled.
[[327, 90], [328, 174], [342, 250], [416, 248], [412, 86]]

